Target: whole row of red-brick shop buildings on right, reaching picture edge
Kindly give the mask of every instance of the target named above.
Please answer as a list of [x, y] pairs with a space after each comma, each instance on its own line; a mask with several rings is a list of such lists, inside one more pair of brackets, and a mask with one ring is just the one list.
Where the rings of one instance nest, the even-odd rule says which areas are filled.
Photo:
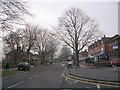
[[95, 60], [120, 58], [120, 35], [102, 37], [88, 47], [88, 56]]

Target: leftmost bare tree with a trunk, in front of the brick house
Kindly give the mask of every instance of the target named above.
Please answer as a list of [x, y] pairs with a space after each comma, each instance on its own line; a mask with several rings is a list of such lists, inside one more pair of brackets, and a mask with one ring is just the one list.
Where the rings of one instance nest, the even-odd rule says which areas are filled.
[[7, 49], [6, 54], [10, 51], [13, 52], [11, 57], [13, 57], [14, 63], [16, 63], [17, 55], [19, 54], [18, 51], [20, 50], [21, 47], [20, 46], [21, 40], [22, 37], [17, 32], [11, 32], [4, 38], [5, 42], [4, 48]]

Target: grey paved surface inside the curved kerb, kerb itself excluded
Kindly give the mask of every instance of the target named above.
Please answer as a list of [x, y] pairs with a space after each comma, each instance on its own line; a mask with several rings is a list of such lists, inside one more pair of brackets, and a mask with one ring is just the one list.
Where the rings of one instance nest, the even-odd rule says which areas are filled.
[[120, 82], [120, 67], [116, 68], [116, 72], [114, 70], [114, 67], [104, 67], [97, 69], [78, 67], [69, 68], [67, 71], [71, 75], [83, 78]]

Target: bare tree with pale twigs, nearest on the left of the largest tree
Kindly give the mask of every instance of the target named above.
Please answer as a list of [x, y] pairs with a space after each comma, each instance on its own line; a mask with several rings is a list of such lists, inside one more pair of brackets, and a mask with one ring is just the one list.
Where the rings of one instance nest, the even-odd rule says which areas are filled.
[[[37, 33], [37, 41], [35, 43], [35, 50], [39, 53], [41, 64], [45, 64], [48, 59], [50, 53], [55, 51], [54, 39], [52, 35], [47, 29], [39, 28]], [[52, 51], [53, 50], [53, 51]]]

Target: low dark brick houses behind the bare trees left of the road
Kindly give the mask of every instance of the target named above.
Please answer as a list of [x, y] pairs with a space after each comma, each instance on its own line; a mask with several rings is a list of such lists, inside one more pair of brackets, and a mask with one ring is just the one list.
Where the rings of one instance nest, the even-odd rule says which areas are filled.
[[6, 54], [5, 62], [18, 63], [18, 62], [22, 62], [22, 61], [28, 61], [29, 59], [32, 60], [32, 61], [38, 61], [39, 60], [39, 55], [38, 54], [32, 54], [30, 52], [30, 55], [28, 56], [27, 52], [24, 52], [19, 47], [18, 49], [12, 50], [12, 51], [10, 51]]

